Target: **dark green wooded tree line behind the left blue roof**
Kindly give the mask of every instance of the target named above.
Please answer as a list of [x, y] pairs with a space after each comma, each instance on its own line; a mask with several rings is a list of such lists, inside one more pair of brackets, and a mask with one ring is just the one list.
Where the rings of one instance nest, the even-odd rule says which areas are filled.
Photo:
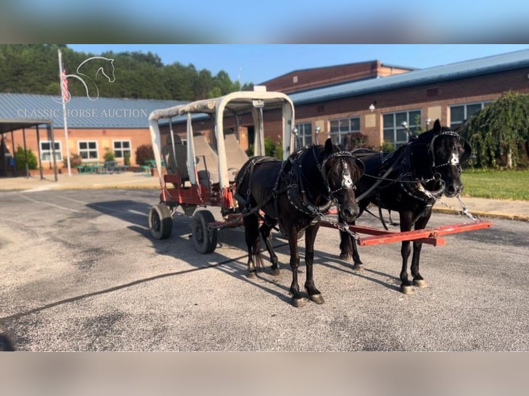
[[[198, 70], [189, 64], [175, 62], [164, 65], [153, 52], [76, 52], [66, 44], [7, 44], [0, 46], [0, 92], [31, 93], [60, 96], [57, 49], [61, 49], [67, 74], [75, 74], [81, 63], [90, 57], [114, 59], [115, 81], [97, 83], [99, 97], [128, 99], [162, 99], [193, 101], [219, 97], [237, 90], [251, 90], [253, 83], [241, 86], [231, 81], [221, 70], [212, 75], [209, 70]], [[93, 64], [95, 82], [105, 77]], [[75, 78], [68, 79], [68, 90], [73, 96], [86, 95], [86, 88]]]

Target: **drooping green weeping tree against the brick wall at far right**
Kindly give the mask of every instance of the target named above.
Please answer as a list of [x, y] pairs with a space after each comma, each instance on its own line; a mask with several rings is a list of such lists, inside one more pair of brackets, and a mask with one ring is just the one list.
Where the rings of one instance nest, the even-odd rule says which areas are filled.
[[528, 166], [529, 95], [507, 92], [472, 117], [463, 132], [479, 168]]

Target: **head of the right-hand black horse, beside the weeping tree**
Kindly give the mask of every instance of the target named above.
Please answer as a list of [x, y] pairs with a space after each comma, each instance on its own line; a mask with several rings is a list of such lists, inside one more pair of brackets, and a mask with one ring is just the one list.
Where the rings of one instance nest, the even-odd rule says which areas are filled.
[[[414, 164], [414, 167], [423, 169], [428, 175], [421, 175], [427, 181], [441, 181], [441, 190], [447, 197], [454, 197], [463, 191], [461, 182], [461, 164], [470, 157], [472, 149], [470, 145], [461, 139], [461, 131], [464, 125], [461, 124], [455, 130], [441, 126], [439, 119], [434, 122], [434, 128], [419, 135], [414, 142], [419, 143], [416, 147], [426, 146], [423, 155], [416, 155], [415, 159], [421, 159], [423, 164]], [[413, 145], [413, 142], [410, 143]], [[421, 161], [421, 160], [419, 160]]]

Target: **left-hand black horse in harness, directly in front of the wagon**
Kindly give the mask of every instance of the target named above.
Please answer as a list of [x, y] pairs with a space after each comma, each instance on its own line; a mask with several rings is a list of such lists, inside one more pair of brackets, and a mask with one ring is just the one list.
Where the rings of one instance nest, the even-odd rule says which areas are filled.
[[[359, 209], [355, 183], [362, 170], [361, 161], [351, 152], [340, 150], [331, 139], [327, 139], [325, 146], [303, 148], [286, 161], [271, 157], [249, 159], [239, 171], [235, 189], [248, 246], [248, 276], [255, 277], [256, 268], [262, 268], [260, 235], [270, 254], [272, 274], [279, 274], [278, 257], [273, 252], [270, 235], [279, 223], [289, 240], [293, 304], [301, 306], [305, 299], [298, 285], [298, 233], [305, 230], [305, 289], [312, 301], [323, 304], [312, 276], [314, 240], [320, 217], [336, 204], [343, 221], [356, 219]], [[259, 228], [260, 218], [264, 222]]]

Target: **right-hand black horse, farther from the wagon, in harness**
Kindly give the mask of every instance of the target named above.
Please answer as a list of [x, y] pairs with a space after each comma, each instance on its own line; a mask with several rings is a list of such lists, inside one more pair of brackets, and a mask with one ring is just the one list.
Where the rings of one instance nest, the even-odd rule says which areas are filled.
[[[410, 231], [412, 226], [416, 230], [425, 228], [432, 215], [432, 206], [441, 195], [444, 193], [447, 197], [454, 197], [463, 190], [461, 164], [470, 157], [471, 149], [459, 136], [462, 129], [463, 124], [456, 130], [441, 127], [438, 119], [433, 129], [412, 136], [409, 143], [389, 155], [366, 150], [363, 150], [363, 154], [356, 153], [365, 164], [364, 175], [356, 190], [360, 214], [369, 204], [374, 204], [379, 208], [384, 226], [381, 208], [399, 213], [401, 231]], [[417, 287], [426, 286], [419, 273], [421, 247], [421, 242], [414, 241], [410, 269], [413, 285]], [[401, 291], [404, 294], [413, 293], [412, 283], [407, 276], [410, 253], [410, 241], [403, 241]], [[340, 231], [340, 259], [349, 260], [351, 257], [354, 269], [361, 270], [363, 264], [356, 241], [347, 232]]]

